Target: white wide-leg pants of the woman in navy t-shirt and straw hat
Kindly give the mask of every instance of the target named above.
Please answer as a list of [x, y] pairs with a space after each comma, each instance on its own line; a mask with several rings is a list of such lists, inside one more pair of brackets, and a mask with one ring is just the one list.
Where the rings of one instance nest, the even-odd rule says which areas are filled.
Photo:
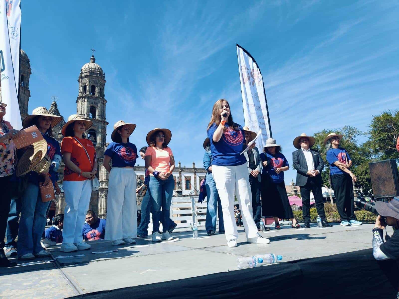
[[113, 167], [109, 174], [105, 240], [137, 237], [136, 173]]

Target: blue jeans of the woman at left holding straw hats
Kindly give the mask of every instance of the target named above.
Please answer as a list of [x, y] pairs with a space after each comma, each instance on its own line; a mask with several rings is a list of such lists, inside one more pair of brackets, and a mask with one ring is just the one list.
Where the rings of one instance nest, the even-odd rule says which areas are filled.
[[38, 254], [43, 248], [40, 240], [46, 225], [50, 202], [42, 203], [39, 185], [28, 183], [22, 197], [20, 227], [18, 229], [18, 257]]

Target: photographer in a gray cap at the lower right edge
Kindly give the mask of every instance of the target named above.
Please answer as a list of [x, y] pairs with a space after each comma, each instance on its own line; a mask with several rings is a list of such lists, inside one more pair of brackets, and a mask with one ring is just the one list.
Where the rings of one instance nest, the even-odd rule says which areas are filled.
[[[399, 259], [399, 197], [394, 197], [390, 203], [377, 201], [375, 209], [379, 216], [373, 229], [373, 256], [376, 260]], [[385, 225], [393, 226], [395, 231], [384, 243], [383, 229]]]

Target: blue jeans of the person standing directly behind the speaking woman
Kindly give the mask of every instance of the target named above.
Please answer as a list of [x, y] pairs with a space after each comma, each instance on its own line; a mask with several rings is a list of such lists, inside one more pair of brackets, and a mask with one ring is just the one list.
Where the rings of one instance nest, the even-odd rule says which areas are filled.
[[206, 174], [205, 188], [207, 195], [207, 209], [205, 219], [205, 229], [216, 231], [216, 209], [219, 216], [219, 232], [224, 232], [223, 213], [219, 194], [217, 194], [216, 184], [211, 173]]

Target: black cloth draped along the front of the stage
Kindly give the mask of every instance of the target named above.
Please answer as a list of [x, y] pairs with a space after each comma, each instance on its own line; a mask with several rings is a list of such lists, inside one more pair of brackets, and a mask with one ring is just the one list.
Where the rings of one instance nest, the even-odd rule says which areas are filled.
[[[299, 249], [298, 249], [299, 250]], [[206, 261], [203, 261], [206, 262]], [[231, 264], [235, 264], [232, 256]], [[192, 273], [195, 274], [195, 269]], [[126, 273], [128, 275], [128, 273]], [[266, 267], [100, 291], [71, 298], [395, 298], [398, 266], [376, 261], [372, 249]], [[263, 297], [265, 298], [265, 297]]]

